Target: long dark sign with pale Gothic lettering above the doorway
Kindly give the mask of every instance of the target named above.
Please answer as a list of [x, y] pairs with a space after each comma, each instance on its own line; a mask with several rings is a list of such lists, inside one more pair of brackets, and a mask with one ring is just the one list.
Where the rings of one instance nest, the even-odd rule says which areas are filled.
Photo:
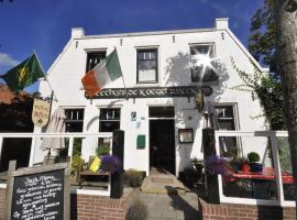
[[201, 90], [205, 96], [210, 96], [211, 87], [147, 87], [147, 88], [107, 88], [102, 89], [94, 99], [119, 98], [167, 98], [167, 97], [194, 97]]

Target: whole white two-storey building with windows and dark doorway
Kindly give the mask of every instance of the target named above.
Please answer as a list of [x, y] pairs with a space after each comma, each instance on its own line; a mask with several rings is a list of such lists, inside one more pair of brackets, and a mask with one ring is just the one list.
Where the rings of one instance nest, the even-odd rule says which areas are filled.
[[[123, 78], [108, 85], [110, 90], [103, 90], [102, 97], [86, 98], [81, 78], [114, 47]], [[201, 81], [199, 62], [208, 52], [207, 57], [218, 58], [211, 62], [216, 72], [207, 68]], [[125, 169], [150, 174], [152, 166], [161, 166], [178, 175], [190, 158], [202, 158], [204, 113], [196, 108], [193, 88], [211, 85], [213, 91], [206, 100], [216, 107], [221, 129], [265, 130], [263, 118], [252, 119], [262, 113], [260, 103], [252, 100], [251, 94], [232, 89], [243, 82], [232, 67], [231, 57], [240, 69], [254, 70], [250, 59], [255, 61], [229, 29], [228, 19], [217, 19], [215, 28], [198, 30], [85, 35], [82, 29], [73, 29], [70, 40], [47, 75], [58, 100], [53, 111], [57, 106], [66, 109], [68, 129], [73, 131], [124, 130]], [[129, 97], [117, 98], [120, 89], [114, 88], [124, 89]], [[40, 92], [51, 95], [45, 81], [41, 81]], [[35, 132], [40, 131], [35, 128]], [[246, 155], [244, 150], [241, 152], [245, 148], [242, 144], [234, 141], [233, 147]], [[256, 146], [249, 151], [253, 147]], [[82, 157], [95, 155], [96, 148], [94, 140], [84, 140]], [[33, 163], [41, 162], [45, 154], [36, 147]]]

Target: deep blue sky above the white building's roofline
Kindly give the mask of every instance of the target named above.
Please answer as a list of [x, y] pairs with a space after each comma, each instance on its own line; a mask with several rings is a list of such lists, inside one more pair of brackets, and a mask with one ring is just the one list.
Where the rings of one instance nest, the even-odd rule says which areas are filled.
[[[84, 28], [86, 35], [204, 29], [213, 28], [216, 18], [229, 18], [229, 28], [248, 47], [251, 18], [262, 6], [263, 0], [2, 0], [0, 75], [34, 51], [46, 72], [72, 28]], [[37, 84], [25, 90], [36, 89]]]

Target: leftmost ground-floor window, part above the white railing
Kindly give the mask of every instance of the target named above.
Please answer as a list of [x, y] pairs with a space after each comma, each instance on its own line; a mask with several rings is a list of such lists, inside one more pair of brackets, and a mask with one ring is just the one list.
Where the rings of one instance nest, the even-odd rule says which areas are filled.
[[82, 132], [84, 109], [65, 109], [66, 132]]

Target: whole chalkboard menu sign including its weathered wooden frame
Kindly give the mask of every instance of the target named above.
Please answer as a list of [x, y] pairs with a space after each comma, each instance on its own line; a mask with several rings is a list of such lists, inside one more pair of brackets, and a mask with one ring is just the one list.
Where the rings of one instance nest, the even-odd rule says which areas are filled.
[[54, 164], [37, 168], [10, 170], [8, 219], [67, 219], [65, 210], [68, 212], [69, 207], [65, 207], [65, 204], [69, 199], [65, 197], [67, 196], [65, 189], [68, 189], [69, 186], [65, 187], [66, 167], [67, 164]]

